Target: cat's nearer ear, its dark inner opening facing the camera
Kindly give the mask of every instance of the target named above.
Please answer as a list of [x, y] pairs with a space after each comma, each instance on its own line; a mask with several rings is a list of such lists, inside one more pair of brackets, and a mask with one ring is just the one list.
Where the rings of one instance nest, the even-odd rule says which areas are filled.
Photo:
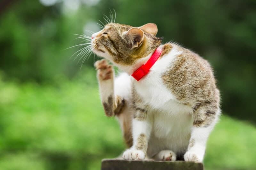
[[139, 28], [131, 28], [124, 32], [124, 37], [128, 40], [129, 48], [133, 49], [139, 47], [142, 44], [144, 32]]

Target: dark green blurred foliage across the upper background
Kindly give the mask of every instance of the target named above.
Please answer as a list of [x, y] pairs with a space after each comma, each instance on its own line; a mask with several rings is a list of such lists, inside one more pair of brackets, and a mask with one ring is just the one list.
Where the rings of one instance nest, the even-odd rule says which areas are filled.
[[[176, 41], [209, 60], [222, 94], [222, 109], [255, 123], [255, 7], [252, 0], [104, 0], [65, 13], [62, 3], [45, 7], [39, 1], [20, 1], [0, 18], [0, 68], [21, 81], [76, 76], [81, 61], [77, 64], [79, 58], [70, 57], [77, 48], [64, 49], [81, 43], [73, 34], [83, 33], [86, 23], [103, 20], [114, 8], [117, 22], [134, 26], [154, 22], [164, 42]], [[86, 60], [84, 67], [92, 67], [93, 60]]]

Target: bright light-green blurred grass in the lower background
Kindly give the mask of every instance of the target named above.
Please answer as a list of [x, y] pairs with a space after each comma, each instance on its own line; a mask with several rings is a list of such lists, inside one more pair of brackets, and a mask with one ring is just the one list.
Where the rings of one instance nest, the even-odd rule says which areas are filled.
[[[56, 83], [57, 82], [57, 83]], [[115, 118], [104, 115], [95, 72], [54, 84], [20, 84], [0, 77], [0, 169], [100, 169], [125, 148]], [[222, 116], [204, 166], [254, 169], [255, 126]]]

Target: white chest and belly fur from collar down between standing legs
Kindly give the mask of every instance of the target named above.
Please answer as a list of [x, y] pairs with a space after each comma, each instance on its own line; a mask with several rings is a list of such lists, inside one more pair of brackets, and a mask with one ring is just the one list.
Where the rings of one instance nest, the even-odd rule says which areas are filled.
[[174, 152], [184, 151], [188, 146], [192, 127], [192, 109], [180, 103], [167, 89], [162, 74], [167, 71], [172, 61], [181, 52], [172, 49], [158, 60], [139, 82], [133, 80], [136, 92], [149, 105], [148, 116], [153, 117], [153, 128], [148, 145], [148, 154], [152, 155], [163, 149]]

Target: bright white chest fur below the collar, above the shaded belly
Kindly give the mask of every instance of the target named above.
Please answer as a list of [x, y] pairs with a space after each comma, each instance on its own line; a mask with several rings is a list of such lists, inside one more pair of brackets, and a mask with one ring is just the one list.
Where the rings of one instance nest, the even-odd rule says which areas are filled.
[[172, 65], [172, 61], [177, 55], [181, 54], [175, 47], [170, 53], [157, 60], [151, 67], [149, 73], [140, 81], [133, 79], [134, 87], [137, 93], [143, 98], [143, 101], [153, 109], [165, 110], [179, 104], [170, 89], [167, 89], [162, 80], [162, 74]]

